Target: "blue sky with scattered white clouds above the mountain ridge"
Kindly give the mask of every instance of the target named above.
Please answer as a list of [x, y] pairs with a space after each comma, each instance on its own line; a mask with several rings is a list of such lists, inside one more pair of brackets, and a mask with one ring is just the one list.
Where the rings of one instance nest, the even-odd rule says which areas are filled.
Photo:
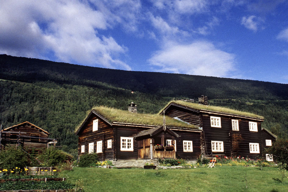
[[0, 0], [0, 54], [288, 84], [288, 0]]

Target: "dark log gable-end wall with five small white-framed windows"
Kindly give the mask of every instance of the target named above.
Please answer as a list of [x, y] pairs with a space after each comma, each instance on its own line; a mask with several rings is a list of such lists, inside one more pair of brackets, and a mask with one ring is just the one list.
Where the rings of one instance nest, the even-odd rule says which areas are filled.
[[[92, 131], [93, 120], [98, 119], [98, 130]], [[97, 153], [100, 161], [105, 159], [113, 160], [113, 151], [114, 151], [114, 139], [113, 139], [113, 129], [112, 127], [97, 118], [96, 116], [91, 116], [87, 123], [85, 123], [84, 128], [79, 132], [78, 137], [78, 155], [83, 155], [89, 151], [89, 143], [94, 142], [94, 153], [97, 150], [97, 141], [102, 140], [102, 153]], [[112, 140], [112, 148], [107, 148], [108, 140]], [[81, 146], [85, 145], [85, 152], [81, 153]]]

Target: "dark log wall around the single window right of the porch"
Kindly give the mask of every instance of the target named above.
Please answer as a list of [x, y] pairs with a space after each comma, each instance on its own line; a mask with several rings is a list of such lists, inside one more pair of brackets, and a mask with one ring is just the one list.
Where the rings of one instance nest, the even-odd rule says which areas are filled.
[[[172, 130], [177, 133], [180, 137], [175, 138], [176, 140], [176, 158], [183, 158], [187, 160], [196, 160], [201, 155], [201, 139], [200, 132], [188, 132]], [[193, 152], [183, 151], [183, 140], [192, 141]]]

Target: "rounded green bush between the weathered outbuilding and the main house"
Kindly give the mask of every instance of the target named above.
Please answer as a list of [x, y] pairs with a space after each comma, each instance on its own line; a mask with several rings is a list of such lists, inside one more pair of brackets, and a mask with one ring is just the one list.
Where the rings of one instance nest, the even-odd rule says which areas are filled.
[[57, 166], [60, 163], [64, 162], [66, 155], [62, 153], [61, 150], [54, 147], [49, 147], [44, 149], [42, 154], [38, 156], [39, 160], [43, 162], [43, 166]]

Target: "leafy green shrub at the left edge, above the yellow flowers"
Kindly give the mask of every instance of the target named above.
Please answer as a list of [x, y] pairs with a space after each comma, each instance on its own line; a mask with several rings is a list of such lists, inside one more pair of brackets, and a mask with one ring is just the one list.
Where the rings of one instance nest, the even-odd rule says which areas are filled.
[[9, 170], [15, 167], [24, 169], [29, 165], [27, 155], [21, 147], [17, 147], [17, 149], [13, 146], [5, 147], [5, 150], [0, 151], [0, 159], [3, 162], [0, 167], [2, 169]]

